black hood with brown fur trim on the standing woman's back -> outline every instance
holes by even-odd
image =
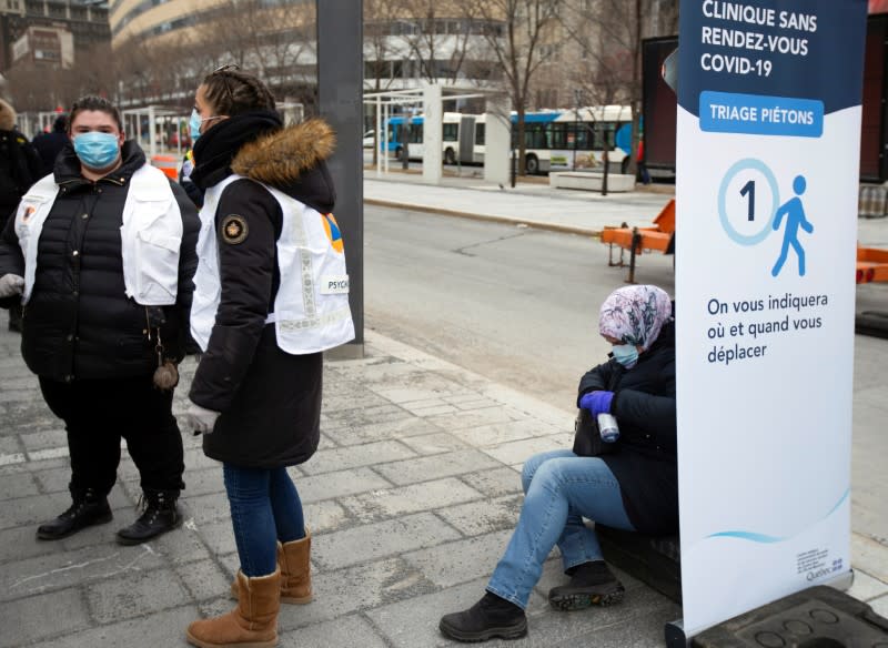
[[[321,212],[332,211],[335,191],[325,160],[336,135],[321,119],[285,126],[244,144],[231,170],[280,189]]]

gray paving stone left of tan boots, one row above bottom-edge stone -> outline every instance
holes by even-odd
[[[92,617],[110,624],[188,605],[190,597],[171,569],[131,571],[85,587]]]

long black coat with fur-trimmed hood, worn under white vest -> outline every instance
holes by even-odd
[[[233,172],[245,176],[224,189],[213,214],[222,295],[189,394],[221,412],[203,437],[204,454],[220,462],[274,468],[303,463],[317,448],[322,354],[281,351],[274,325],[265,324],[280,285],[283,214],[254,181],[329,213],[335,195],[324,160],[333,143],[320,120],[281,129],[273,113],[255,113],[219,122],[194,146],[191,179],[201,190]],[[235,237],[224,225],[232,219],[240,223]]]

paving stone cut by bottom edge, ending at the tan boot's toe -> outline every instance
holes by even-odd
[[[67,634],[38,644],[37,648],[159,648],[186,646],[185,628],[196,619],[194,605],[179,606],[144,617],[99,626],[81,632]]]

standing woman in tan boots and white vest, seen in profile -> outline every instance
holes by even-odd
[[[322,352],[354,337],[324,160],[334,135],[287,128],[236,65],[198,88],[191,180],[204,192],[191,314],[203,350],[185,428],[222,462],[240,569],[231,612],[192,622],[206,646],[274,646],[283,603],[309,603],[311,536],[286,472],[320,439]]]

